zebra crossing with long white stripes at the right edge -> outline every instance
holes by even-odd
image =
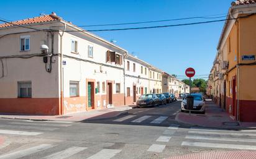
[[[256,134],[244,131],[191,127],[181,146],[256,150]]]

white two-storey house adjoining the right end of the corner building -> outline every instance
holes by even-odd
[[[125,57],[125,89],[126,105],[132,105],[140,95],[149,93],[150,64],[135,56],[127,54]]]

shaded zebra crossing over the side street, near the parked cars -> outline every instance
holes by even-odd
[[[136,115],[127,115],[122,118],[114,119],[112,122],[132,122],[132,123],[142,123],[142,122],[149,122],[149,124],[161,124],[163,121],[168,119],[168,116],[136,116]]]

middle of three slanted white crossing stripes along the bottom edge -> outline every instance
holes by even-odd
[[[48,155],[47,157],[44,157],[43,159],[64,159],[71,157],[72,155],[75,155],[78,152],[81,152],[85,150],[87,147],[70,147],[66,150],[53,153],[52,155]]]

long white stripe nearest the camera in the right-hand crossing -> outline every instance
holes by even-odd
[[[182,142],[182,146],[190,147],[211,147],[211,148],[231,148],[239,150],[256,150],[254,145],[238,145],[238,144],[216,144],[209,142]]]

